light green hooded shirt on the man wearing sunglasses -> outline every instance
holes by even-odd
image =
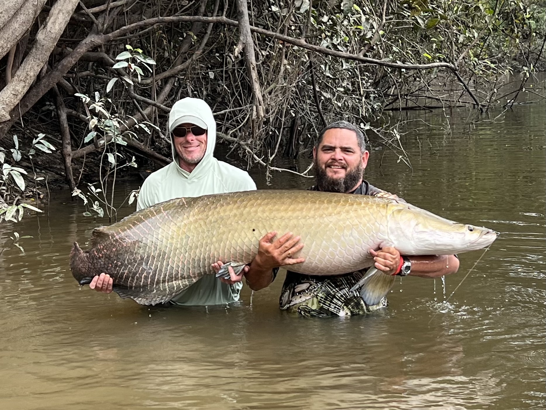
[[[183,98],[177,101],[169,113],[168,133],[176,126],[189,122],[207,128],[205,156],[187,172],[180,168],[178,154],[171,137],[173,162],[151,173],[140,188],[136,210],[173,198],[195,197],[224,192],[251,191],[256,184],[248,175],[228,163],[212,156],[216,145],[216,122],[209,105],[199,98]],[[242,283],[228,285],[214,275],[205,275],[188,289],[173,298],[173,302],[187,306],[224,304],[239,300]]]

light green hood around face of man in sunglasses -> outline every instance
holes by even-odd
[[[176,153],[173,136],[171,134],[171,131],[174,130],[174,128],[186,122],[195,124],[201,128],[206,128],[207,130],[205,156],[191,173],[180,168],[178,154]],[[173,108],[170,110],[167,131],[171,140],[173,160],[181,175],[187,179],[199,179],[202,175],[206,174],[214,161],[212,154],[216,147],[216,121],[212,116],[212,110],[210,109],[209,104],[200,98],[186,97],[179,99],[179,101],[173,104]]]

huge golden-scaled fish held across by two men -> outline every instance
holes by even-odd
[[[212,263],[250,263],[265,233],[293,232],[313,275],[353,272],[373,264],[370,249],[402,255],[449,255],[481,249],[496,232],[458,224],[403,201],[316,191],[258,190],[177,198],[95,229],[90,249],[77,243],[70,268],[80,284],[104,272],[114,291],[157,304],[187,289]]]

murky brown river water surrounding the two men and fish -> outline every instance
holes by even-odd
[[[21,241],[25,254],[0,255],[0,408],[544,408],[544,105],[483,121],[498,114],[449,112],[446,131],[441,113],[408,113],[435,125],[408,122],[412,170],[383,150],[366,170],[417,206],[500,232],[447,302],[481,251],[461,255],[445,284],[397,281],[384,312],[302,319],[278,309],[282,276],[252,304],[245,287],[239,305],[208,309],[80,288],[69,250],[99,222],[64,194],[49,213],[3,224],[2,242],[13,230],[33,238]]]

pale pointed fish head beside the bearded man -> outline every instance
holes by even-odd
[[[460,224],[408,204],[393,214],[389,231],[397,232],[393,245],[403,255],[452,255],[483,249],[498,235],[486,227]]]

